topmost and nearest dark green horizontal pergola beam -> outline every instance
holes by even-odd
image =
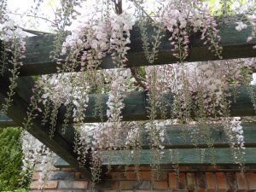
[[[232,16],[218,19],[218,29],[221,36],[220,45],[223,47],[223,59],[236,59],[255,57],[256,51],[253,45],[256,44],[256,39],[247,43],[247,37],[251,33],[250,27],[246,30],[237,32],[236,21],[239,21],[239,16]],[[153,40],[154,30],[152,26],[148,26],[149,41]],[[177,58],[172,54],[172,46],[168,38],[171,34],[166,32],[161,39],[160,51],[158,59],[154,61],[153,65],[176,63]],[[56,63],[49,60],[49,51],[54,49],[54,35],[42,35],[26,38],[26,58],[23,60],[23,66],[20,68],[20,75],[38,75],[56,73]],[[218,57],[207,49],[201,41],[201,34],[195,33],[191,37],[189,47],[189,56],[186,61],[212,61],[218,60]],[[127,67],[147,66],[148,61],[143,54],[143,45],[140,39],[140,32],[137,26],[134,26],[131,31],[131,49],[127,55]],[[102,69],[116,67],[113,64],[111,57],[108,55],[103,58],[100,66]],[[77,68],[79,71],[79,68]]]

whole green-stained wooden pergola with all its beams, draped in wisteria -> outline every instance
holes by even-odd
[[[218,20],[218,29],[221,36],[220,45],[223,47],[223,59],[236,59],[256,57],[256,51],[253,49],[253,45],[256,45],[256,39],[247,43],[247,37],[250,34],[250,29],[246,29],[242,32],[236,32],[235,30],[236,17],[223,18]],[[134,27],[131,31],[131,49],[127,55],[128,61],[127,67],[140,67],[145,66],[148,63],[144,54],[142,42],[138,35],[139,29]],[[153,27],[148,26],[148,32],[153,32]],[[172,55],[172,45],[168,41],[170,33],[166,32],[162,43],[160,44],[159,58],[154,61],[154,65],[176,63],[177,58]],[[214,55],[211,50],[207,49],[207,45],[204,45],[201,41],[201,35],[195,33],[190,37],[189,44],[189,56],[186,61],[213,61],[218,60],[218,56]],[[150,40],[150,39],[149,39]],[[18,85],[15,89],[16,93],[13,97],[13,104],[9,108],[8,116],[2,116],[1,126],[22,126],[24,119],[26,118],[26,110],[29,107],[30,98],[32,96],[32,88],[34,86],[34,80],[31,76],[57,73],[56,63],[49,60],[49,51],[54,47],[54,35],[38,35],[30,38],[26,38],[26,58],[23,60],[23,66],[20,67],[20,77],[18,79]],[[102,69],[108,69],[115,67],[111,56],[107,56],[103,59],[100,66]],[[79,71],[79,68],[77,68]],[[0,77],[0,102],[4,102],[4,98],[7,96],[9,90],[9,77],[8,75]],[[256,93],[256,87],[253,87],[254,93]],[[103,95],[103,101],[108,101],[108,95]],[[172,94],[166,95],[168,98],[167,116],[172,114]],[[101,117],[94,115],[94,103],[96,100],[95,95],[90,95],[90,102],[85,112],[84,122],[99,122]],[[134,120],[146,120],[147,118],[148,102],[146,94],[144,92],[132,92],[128,93],[125,97],[125,108],[122,110],[122,116],[124,121]],[[42,106],[43,110],[44,107]],[[103,105],[104,119],[107,120],[107,105]],[[61,106],[58,111],[58,118],[55,127],[55,134],[53,138],[49,137],[49,126],[41,125],[42,116],[38,115],[36,119],[32,121],[31,129],[29,131],[34,137],[37,137],[39,141],[44,143],[47,147],[58,154],[68,164],[73,166],[79,171],[83,171],[87,176],[90,176],[89,166],[79,166],[77,160],[77,154],[73,152],[74,143],[74,128],[73,121],[70,119],[67,133],[65,135],[61,132],[61,126],[63,125],[64,113],[66,108]],[[230,106],[230,116],[255,116],[256,112],[253,108],[250,96],[248,95],[245,87],[240,87],[238,94],[236,95],[236,102],[232,102]],[[157,118],[160,119],[160,112],[157,113]],[[209,157],[206,156],[204,162],[192,152],[194,144],[190,141],[184,142],[180,137],[182,125],[169,126],[167,128],[167,134],[169,140],[165,141],[165,147],[167,149],[177,148],[181,158],[179,164],[211,164]],[[256,163],[256,124],[244,123],[244,137],[246,154],[246,164]],[[145,133],[146,134],[146,133]],[[214,140],[214,148],[216,148],[216,164],[232,164],[233,160],[229,154],[229,143],[224,137],[222,131],[212,131],[212,139]],[[148,158],[148,145],[147,139],[143,139],[143,155],[141,164],[149,164]],[[120,146],[121,148],[122,146]],[[198,148],[207,148],[207,143],[200,143]],[[207,151],[208,149],[206,149]],[[112,164],[122,164],[119,160],[119,150],[113,153]],[[193,156],[193,157],[192,157]],[[89,158],[88,158],[89,160]],[[103,165],[108,162],[103,162]],[[124,163],[124,162],[123,162]],[[164,156],[161,160],[161,164],[170,164],[172,161],[168,156]]]

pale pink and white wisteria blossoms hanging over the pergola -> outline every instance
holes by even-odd
[[[185,137],[191,139],[195,147],[200,141],[206,141],[208,148],[212,150],[212,164],[214,147],[211,133],[212,129],[221,125],[236,163],[241,167],[244,164],[241,119],[230,118],[229,108],[233,98],[230,98],[230,91],[227,90],[236,90],[241,84],[246,85],[256,110],[256,96],[250,86],[252,73],[256,70],[255,58],[221,60],[222,47],[218,44],[220,35],[217,22],[206,2],[161,0],[154,1],[153,4],[154,6],[150,7],[150,3],[143,0],[100,1],[90,6],[93,9],[88,9],[89,15],[79,18],[79,7],[86,5],[86,1],[61,0],[61,9],[57,9],[55,14],[55,49],[51,50],[51,59],[57,62],[58,73],[37,77],[24,126],[29,129],[32,120],[38,113],[42,113],[42,125],[49,125],[49,136],[54,137],[58,109],[64,105],[66,113],[63,117],[62,132],[66,133],[69,122],[74,123],[73,150],[78,154],[81,166],[85,165],[90,153],[94,182],[99,179],[101,160],[106,151],[109,169],[113,150],[122,149],[127,152],[127,159],[131,157],[134,160],[138,171],[145,134],[152,151],[152,177],[158,177],[160,160],[165,149],[164,142],[169,139],[166,137],[166,125],[184,125],[185,129],[192,129],[193,125],[201,127],[199,130],[195,129],[191,136]],[[12,65],[10,90],[2,107],[2,113],[6,113],[15,94],[25,44],[22,40],[24,32],[8,15],[7,1],[3,1],[1,6],[2,75],[8,72],[5,68]],[[241,15],[240,20],[236,20],[234,30],[242,32],[251,27],[252,32],[247,37],[247,42],[252,41],[256,32],[255,4],[242,5],[234,1],[229,11]],[[76,28],[73,28],[73,25],[76,25]],[[126,67],[131,29],[136,25],[141,31],[143,49],[149,64],[153,64],[158,58],[160,39],[165,31],[172,34],[169,41],[177,63]],[[148,40],[148,25],[154,26],[152,42]],[[218,56],[219,61],[185,61],[189,55],[190,36],[195,32],[201,32],[202,43],[207,45],[206,49],[211,49]],[[103,58],[107,55],[111,56],[116,68],[99,70]],[[80,68],[80,72],[76,72],[77,68]],[[134,90],[145,92],[145,102],[149,104],[147,121],[123,121],[125,96]],[[84,124],[90,94],[96,94],[95,115],[101,116],[102,119],[96,124]],[[103,115],[103,94],[108,95],[107,117]],[[170,94],[172,101],[166,97]],[[44,106],[44,110],[39,106]],[[166,113],[171,109],[172,116],[167,117]],[[161,112],[160,119],[156,118],[158,111]],[[47,170],[47,162],[50,162],[54,155],[41,143],[29,149],[31,143],[28,137],[30,136],[24,136],[24,169],[32,168],[40,151],[39,154],[47,154],[49,157],[49,160],[42,160],[41,163],[44,170]],[[129,163],[128,160],[127,164]],[[176,164],[177,169],[177,162],[173,164]],[[43,173],[45,174],[42,179],[47,178],[47,172]]]

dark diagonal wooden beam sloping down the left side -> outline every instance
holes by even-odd
[[[0,76],[0,103],[4,102],[4,98],[7,96],[7,92],[9,90],[9,80],[7,79],[8,78],[3,78],[3,76]],[[29,107],[30,98],[32,96],[33,84],[32,78],[18,79],[18,85],[15,89],[16,94],[13,96],[14,102],[9,108],[7,115],[19,126],[22,126],[24,119],[26,119],[26,110]],[[56,129],[58,128],[59,127],[57,126]],[[55,132],[53,138],[50,138],[49,125],[42,126],[39,116],[37,119],[32,121],[32,127],[27,131],[29,131],[32,136],[38,138],[40,142],[44,143],[56,154],[61,156],[61,158],[66,160],[71,166],[84,172],[85,175],[90,177],[90,171],[86,167],[79,166],[77,155],[73,152],[73,145],[67,143],[63,136],[57,132]]]

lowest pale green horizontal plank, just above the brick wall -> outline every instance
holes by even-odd
[[[174,154],[177,153],[178,155]],[[214,159],[215,164],[224,165],[224,164],[235,164],[233,155],[231,154],[230,148],[214,148],[215,152]],[[211,165],[212,164],[212,151],[211,149],[198,149],[195,148],[182,148],[170,150],[164,149],[164,154],[160,160],[160,165],[165,164],[179,164],[179,165]],[[256,148],[246,148],[246,154],[244,154],[244,163],[246,165],[256,165]],[[109,163],[112,166],[122,166],[128,164],[135,165],[137,162],[134,158],[127,158],[127,153],[125,151],[113,151],[109,156],[108,151],[102,152],[102,165],[106,166]],[[130,152],[131,153],[131,152]],[[157,163],[151,158],[150,150],[142,150],[140,155],[140,164],[141,165],[150,165],[150,163]],[[203,158],[201,157],[203,154]],[[125,161],[126,160],[126,161]],[[127,161],[128,160],[128,161]]]

